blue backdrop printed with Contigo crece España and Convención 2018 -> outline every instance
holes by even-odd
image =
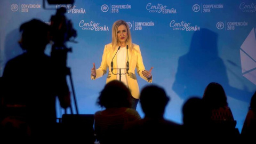
[[[18,45],[21,23],[32,18],[50,23],[61,6],[68,9],[65,15],[77,30],[78,43],[67,43],[72,48],[67,65],[79,114],[101,109],[95,102],[106,76],[92,81],[92,63],[99,67],[104,45],[111,42],[111,27],[122,19],[129,23],[133,43],[140,45],[146,69],[154,67],[153,83],[164,87],[171,97],[167,119],[182,124],[183,102],[191,95],[202,97],[207,84],[218,82],[241,131],[256,90],[255,0],[77,0],[74,5],[46,2],[47,10],[43,0],[2,0],[1,76],[7,60],[22,53]],[[45,52],[50,54],[51,45]],[[138,83],[140,89],[148,84],[141,78]],[[74,110],[74,100],[72,106]],[[137,110],[143,117],[140,104]],[[63,114],[59,105],[57,113],[58,117]]]

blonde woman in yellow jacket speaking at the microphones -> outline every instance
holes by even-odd
[[[117,79],[122,81],[131,90],[132,108],[136,109],[139,101],[139,85],[135,75],[138,75],[148,83],[152,83],[151,70],[145,70],[140,52],[140,46],[132,43],[131,31],[127,23],[117,20],[112,27],[112,42],[105,45],[101,65],[95,69],[95,63],[91,69],[91,79],[97,79],[107,73],[106,83]],[[120,73],[121,72],[121,73]]]

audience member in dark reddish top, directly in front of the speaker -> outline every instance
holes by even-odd
[[[125,123],[140,119],[139,113],[131,108],[131,92],[123,82],[107,83],[100,92],[98,105],[106,108],[94,114],[94,131],[101,144],[122,143],[121,134]]]

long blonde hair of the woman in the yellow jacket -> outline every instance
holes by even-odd
[[[117,37],[117,30],[118,30],[118,27],[121,25],[124,25],[127,28],[127,39],[126,39],[125,45],[128,45],[129,50],[132,52],[133,44],[132,44],[131,31],[130,31],[129,25],[124,20],[117,20],[114,22],[112,26],[112,50],[115,51],[116,47],[118,47],[120,44]]]

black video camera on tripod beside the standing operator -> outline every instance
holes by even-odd
[[[44,9],[45,8],[45,1],[43,2]],[[47,3],[50,5],[57,5],[57,4],[71,4],[73,5],[74,0],[47,0]],[[66,8],[61,6],[57,9],[55,15],[51,17],[51,30],[50,36],[52,45],[51,57],[56,62],[57,66],[66,67],[67,61],[67,53],[71,52],[72,49],[66,46],[66,42],[75,42],[71,40],[72,37],[76,37],[77,33],[76,30],[73,28],[71,20],[68,20],[65,16],[67,12]]]

